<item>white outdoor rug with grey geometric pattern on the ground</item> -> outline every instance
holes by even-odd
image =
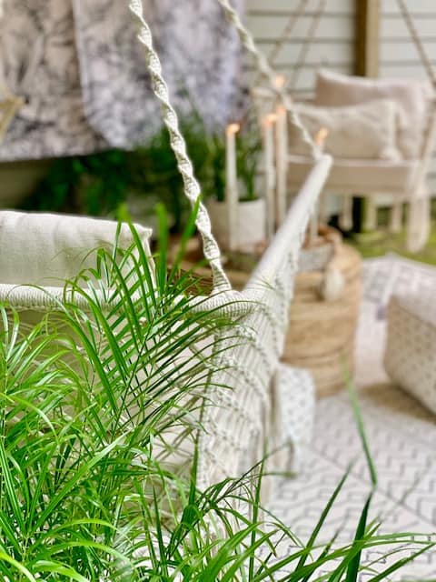
[[[433,289],[436,300],[436,269],[398,256],[364,262],[354,383],[379,477],[371,517],[382,517],[381,533],[417,532],[430,537],[436,533],[436,416],[392,386],[382,366],[384,313],[392,291],[407,293],[423,288]],[[352,540],[371,488],[348,394],[322,399],[317,404],[312,446],[302,472],[278,485],[273,513],[292,527],[295,535],[307,539],[356,458],[320,541],[328,541],[338,531],[338,541],[346,544]],[[281,548],[281,554],[285,553],[286,548]],[[371,573],[362,573],[362,582],[371,579],[374,571],[388,567],[389,562],[380,564],[378,559],[377,551],[363,556],[365,564],[374,564]],[[436,552],[417,558],[390,579],[436,580]]]

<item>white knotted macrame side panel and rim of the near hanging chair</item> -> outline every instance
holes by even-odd
[[[219,361],[229,366],[229,370],[216,382],[226,388],[215,388],[211,395],[216,406],[206,409],[203,422],[206,432],[199,441],[201,487],[229,475],[237,476],[241,464],[253,467],[266,452],[273,410],[272,379],[277,374],[288,330],[289,305],[302,240],[331,162],[330,157],[324,156],[314,166],[240,296],[240,301],[252,308],[239,318],[241,345],[233,348],[231,357]],[[226,295],[213,298],[214,305]],[[229,342],[234,345],[234,337]]]

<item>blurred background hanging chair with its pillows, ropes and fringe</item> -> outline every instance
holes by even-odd
[[[311,14],[307,12],[308,5],[311,4]],[[396,0],[398,9],[404,25],[411,36],[411,42],[416,48],[420,57],[421,64],[425,69],[430,83],[421,82],[417,79],[405,78],[368,78],[362,76],[340,75],[329,71],[321,71],[317,75],[316,88],[314,92],[313,106],[321,107],[319,112],[319,124],[315,126],[316,141],[325,142],[325,137],[321,139],[322,134],[330,135],[326,146],[326,151],[334,157],[332,174],[327,183],[327,189],[334,194],[342,195],[342,214],[340,224],[343,229],[352,228],[352,196],[354,194],[362,196],[376,196],[379,193],[392,195],[393,204],[391,206],[390,228],[391,232],[401,232],[402,208],[404,202],[410,203],[410,212],[407,214],[407,247],[411,252],[420,251],[428,242],[428,236],[431,230],[431,205],[430,205],[430,186],[428,184],[428,175],[431,166],[431,159],[436,146],[436,69],[434,67],[431,55],[424,45],[423,39],[418,33],[414,18],[408,7],[407,0]],[[262,61],[261,71],[263,76],[269,79],[270,86],[253,91],[253,97],[258,104],[259,115],[264,115],[264,110],[275,107],[277,100],[275,95],[281,95],[283,91],[292,94],[292,90],[297,86],[300,73],[306,65],[307,57],[310,55],[313,43],[316,42],[317,31],[320,25],[322,15],[328,5],[326,0],[318,0],[318,3],[309,3],[302,0],[289,18],[288,23],[284,26],[281,37],[272,47],[270,53],[270,63],[280,55],[282,48],[289,42],[297,22],[300,22],[302,16],[309,17],[309,27],[307,35],[302,39],[301,48],[297,60],[293,67],[292,75],[287,80],[284,76],[272,77],[271,66],[265,65],[265,59]],[[262,60],[262,59],[261,59]],[[256,81],[261,80],[258,75]],[[290,97],[291,100],[291,97]],[[387,101],[396,105],[396,115],[392,132],[392,113],[383,115],[383,113],[371,113],[371,106],[375,101],[383,101],[385,108],[388,107]],[[366,105],[368,105],[365,111]],[[311,102],[303,102],[300,105],[294,105],[296,111],[302,119],[302,125],[313,137],[313,127],[309,127],[307,111],[304,108]],[[342,112],[340,107],[361,107],[361,117],[355,118],[356,124],[351,123],[351,111]],[[379,106],[380,103],[379,103]],[[301,109],[299,111],[299,108]],[[323,120],[329,118],[329,112],[333,115],[332,126],[323,123]],[[334,111],[336,109],[336,111]],[[313,114],[313,111],[312,111]],[[371,126],[371,132],[360,132],[364,117],[368,117]],[[312,115],[313,117],[313,115]],[[388,126],[388,130],[386,127]],[[284,134],[286,128],[281,128],[280,132]],[[379,140],[374,142],[374,135]],[[394,140],[391,137],[394,137]],[[371,137],[371,139],[369,139]],[[332,139],[333,138],[333,139]],[[345,152],[340,155],[337,149],[338,140],[348,139],[348,145],[345,146]],[[276,161],[276,189],[277,198],[285,198],[286,189],[290,185],[295,185],[301,180],[302,173],[308,165],[302,159],[297,147],[300,144],[295,140],[292,143],[292,135],[289,144],[286,142],[287,135],[282,135],[279,139],[281,150],[284,151],[283,144],[290,146],[292,158],[288,156],[277,156]],[[343,141],[346,141],[343,139]],[[332,141],[335,142],[332,148]],[[389,142],[385,144],[385,142]],[[382,144],[387,148],[380,148],[380,155],[374,154],[373,145]],[[367,145],[371,147],[366,148]],[[342,144],[343,146],[343,144]],[[365,147],[363,147],[365,146]],[[392,147],[393,146],[393,147]],[[365,149],[366,148],[366,149]],[[365,151],[362,151],[365,150]],[[394,151],[396,150],[396,151]],[[296,157],[293,157],[297,155]],[[398,156],[400,155],[400,156]],[[350,157],[348,159],[342,159]],[[363,158],[370,158],[371,163],[363,161]],[[407,160],[405,162],[387,162],[386,160]],[[289,165],[288,165],[289,160]],[[309,164],[310,166],[310,164]],[[288,172],[291,177],[288,177]],[[301,183],[301,182],[300,182]],[[324,210],[326,209],[324,205]],[[325,219],[326,216],[323,216]],[[377,208],[376,200],[368,201],[367,213],[365,219],[365,228],[375,229],[377,227]]]

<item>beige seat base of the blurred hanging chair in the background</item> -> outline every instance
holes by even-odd
[[[313,166],[311,158],[290,155],[289,185],[295,190]],[[387,193],[410,196],[420,160],[372,160],[335,158],[326,188],[337,194]]]

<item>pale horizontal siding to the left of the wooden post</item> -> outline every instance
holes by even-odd
[[[282,36],[290,16],[300,0],[246,0],[247,24],[265,55],[270,55],[277,39]],[[312,24],[318,5],[310,0],[305,14],[295,25],[292,36],[283,45],[274,68],[291,76],[299,51]],[[320,66],[350,74],[354,67],[354,2],[353,0],[328,0],[316,40],[307,55],[295,87],[295,93],[312,93],[316,71]]]

